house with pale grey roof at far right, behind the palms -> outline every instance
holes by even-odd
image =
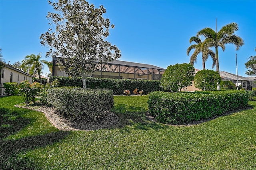
[[[236,82],[236,74],[232,74],[229,72],[220,72],[220,76],[224,77],[222,78],[223,81],[232,81],[236,86],[242,85],[242,88],[246,90],[252,90],[253,86],[255,87],[255,77],[243,77],[243,76],[237,76],[238,82]]]

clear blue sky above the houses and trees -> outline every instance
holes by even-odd
[[[53,0],[52,0],[53,1]],[[189,63],[186,50],[189,39],[202,28],[217,31],[226,24],[236,22],[235,32],[244,40],[244,46],[236,51],[232,44],[220,48],[220,71],[246,76],[244,63],[255,56],[256,47],[256,1],[154,1],[154,0],[90,0],[96,8],[106,8],[105,18],[115,25],[110,30],[108,41],[121,50],[119,60],[152,64],[161,68]],[[42,53],[45,58],[48,48],[41,46],[40,35],[48,30],[47,12],[53,12],[46,0],[0,0],[0,48],[8,63],[24,59],[26,55]],[[214,50],[214,49],[212,49]],[[192,51],[193,52],[193,51]],[[191,52],[191,54],[192,54]],[[215,50],[214,50],[215,52]],[[197,69],[202,69],[201,54]],[[212,69],[212,60],[206,61],[206,69]],[[44,74],[48,73],[45,66]]]

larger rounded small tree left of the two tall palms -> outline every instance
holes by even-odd
[[[182,88],[192,85],[195,69],[192,64],[175,64],[170,65],[165,70],[160,86],[164,90],[177,92]]]

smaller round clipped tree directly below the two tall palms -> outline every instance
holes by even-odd
[[[201,70],[194,78],[195,87],[201,90],[216,90],[220,81],[220,74],[213,70]]]

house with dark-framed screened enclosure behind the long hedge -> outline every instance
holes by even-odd
[[[60,70],[56,64],[57,62],[57,59],[53,58],[52,76],[69,76],[65,71]],[[164,70],[166,69],[150,64],[114,60],[105,65],[99,64],[97,71],[88,76],[116,79],[161,80]]]

